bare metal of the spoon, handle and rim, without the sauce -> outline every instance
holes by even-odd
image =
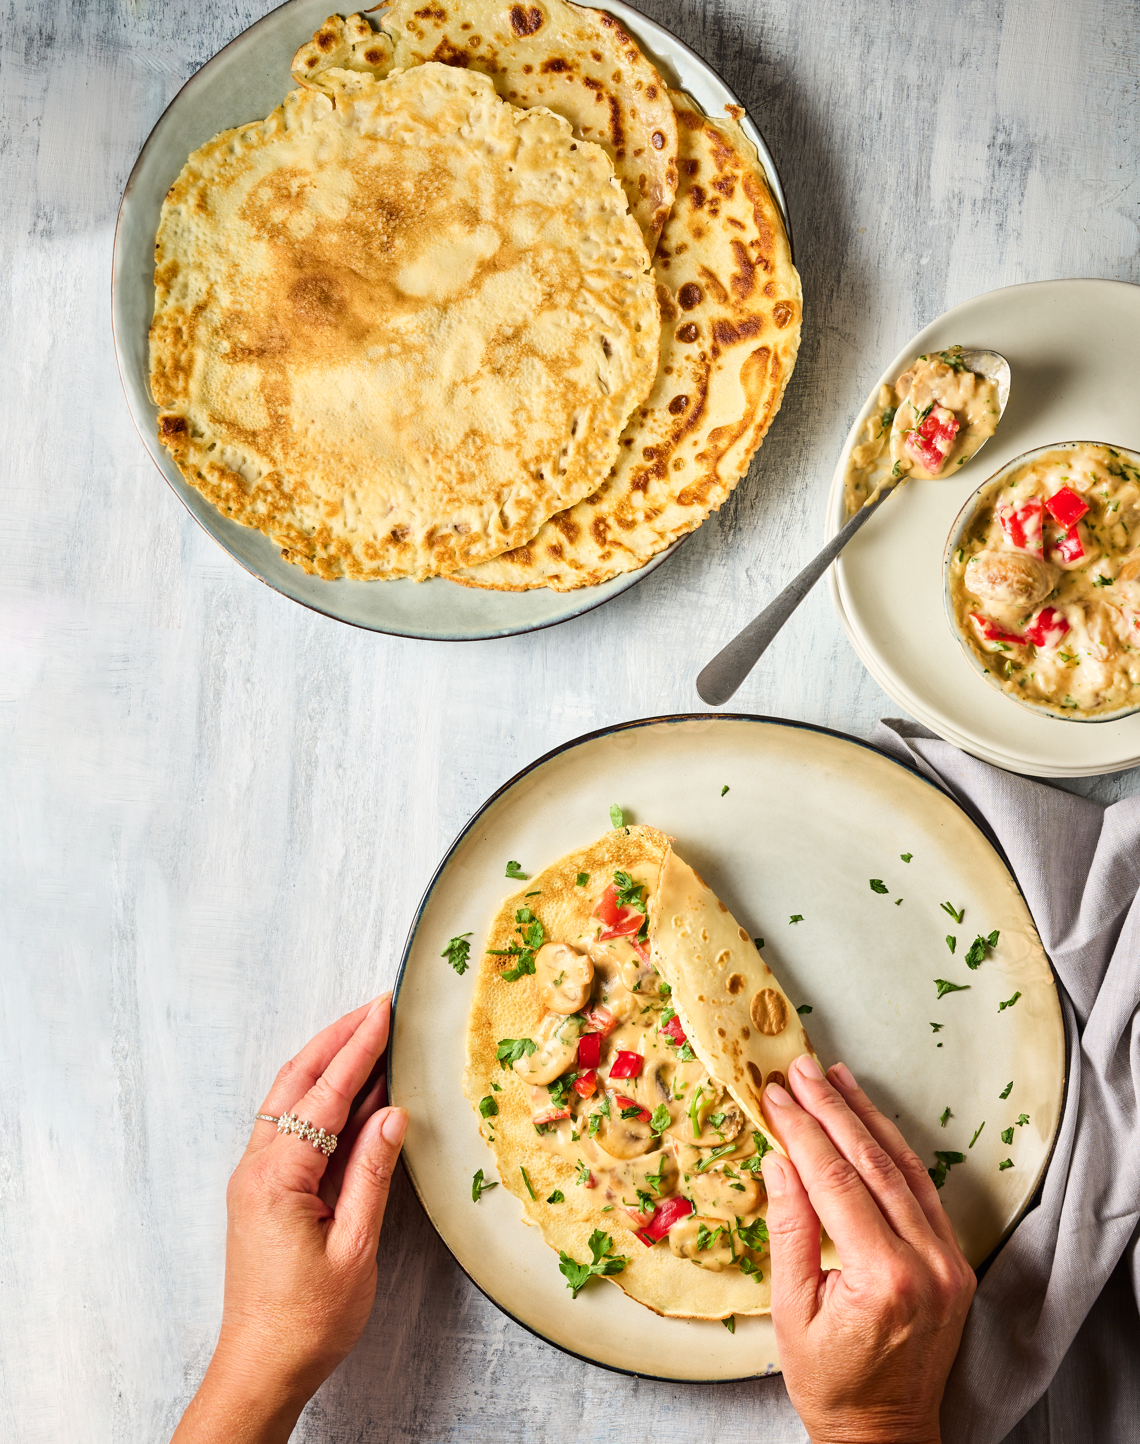
[[[962,351],[961,358],[970,371],[975,371],[978,375],[988,377],[991,381],[997,383],[997,422],[1000,425],[1010,399],[1009,361],[998,351]],[[876,387],[876,391],[878,391],[878,387]],[[997,426],[994,430],[997,430]],[[985,440],[983,440],[978,451],[974,452],[974,456],[978,455],[988,439],[990,438],[987,436]],[[970,458],[971,462],[974,461],[974,456]],[[970,465],[970,462],[967,462],[967,465]],[[955,481],[959,474],[961,468],[955,469]],[[864,503],[847,526],[837,531],[824,550],[803,567],[799,576],[793,578],[779,596],[767,604],[759,617],[754,617],[743,631],[737,632],[727,647],[722,647],[721,651],[717,653],[712,661],[708,663],[696,679],[696,690],[702,702],[707,702],[711,708],[720,708],[733,696],[741,682],[757,664],[760,657],[763,657],[764,651],[767,651],[767,647],[776,637],[776,632],[783,627],[808,592],[811,592],[839,552],[842,552],[858,529],[870,521],[887,497],[890,497],[903,481],[906,481],[904,475],[897,479],[887,478],[887,481],[883,482],[883,488],[876,500],[870,504]]]

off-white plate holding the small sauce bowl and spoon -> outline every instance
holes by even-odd
[[[1095,725],[1033,715],[972,671],[942,605],[942,553],[971,491],[1020,452],[1074,436],[1140,448],[1140,286],[1056,280],[975,296],[920,331],[880,384],[957,342],[1007,358],[1010,404],[977,462],[952,481],[907,482],[847,544],[828,579],[839,621],[883,690],[974,757],[1032,777],[1136,767],[1140,713]],[[828,536],[845,520],[844,462],[865,413],[835,469]]]

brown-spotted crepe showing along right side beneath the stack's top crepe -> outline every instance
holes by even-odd
[[[455,582],[565,592],[637,570],[722,505],[780,409],[802,292],[779,208],[737,121],[707,118],[679,91],[672,100],[681,180],[655,256],[653,390],[592,495]]]

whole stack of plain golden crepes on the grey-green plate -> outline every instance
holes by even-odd
[[[608,14],[394,0],[170,188],[150,332],[185,478],[322,578],[569,591],[715,510],[799,345],[738,117]]]

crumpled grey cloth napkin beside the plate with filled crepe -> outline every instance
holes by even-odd
[[[967,757],[915,722],[884,719],[871,741],[997,839],[1061,982],[1069,1084],[1056,1148],[1036,1207],[978,1285],[942,1402],[945,1440],[997,1444],[1049,1389],[1118,1262],[1140,1302],[1140,797],[1089,801]],[[1140,1354],[1124,1357],[1124,1370],[1089,1380],[1074,1438],[1140,1437]],[[1048,1412],[1035,1411],[1040,1430],[1017,1428],[1019,1444],[1062,1437]]]

